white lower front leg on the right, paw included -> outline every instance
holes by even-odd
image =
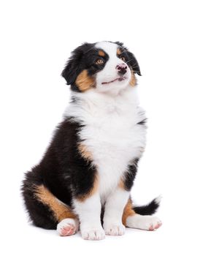
[[[122,187],[117,187],[107,198],[104,210],[104,230],[106,235],[121,236],[125,233],[122,217],[128,197],[129,192]]]

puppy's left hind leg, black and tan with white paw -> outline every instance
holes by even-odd
[[[79,223],[71,208],[55,197],[43,184],[29,179],[23,181],[23,197],[33,224],[45,229],[56,229],[60,236],[77,232]]]

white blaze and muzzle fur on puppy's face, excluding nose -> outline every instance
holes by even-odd
[[[96,90],[102,92],[118,92],[121,89],[126,88],[131,80],[131,70],[126,62],[118,58],[117,50],[119,46],[113,42],[98,42],[95,46],[96,48],[104,50],[104,52],[109,56],[104,69],[102,69],[96,75]],[[127,72],[125,75],[123,75],[123,80],[115,80],[117,78],[122,78],[122,76],[118,74],[117,69],[117,65],[120,64],[127,65]]]

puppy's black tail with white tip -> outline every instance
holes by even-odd
[[[161,195],[153,199],[145,206],[134,206],[133,210],[136,214],[140,215],[152,215],[155,214],[161,203]]]

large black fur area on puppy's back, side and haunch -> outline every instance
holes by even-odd
[[[57,224],[50,210],[34,197],[34,186],[45,185],[63,203],[72,207],[72,197],[86,195],[96,175],[96,167],[78,151],[81,125],[66,118],[55,131],[50,146],[39,165],[26,173],[23,197],[34,225],[55,228]]]

